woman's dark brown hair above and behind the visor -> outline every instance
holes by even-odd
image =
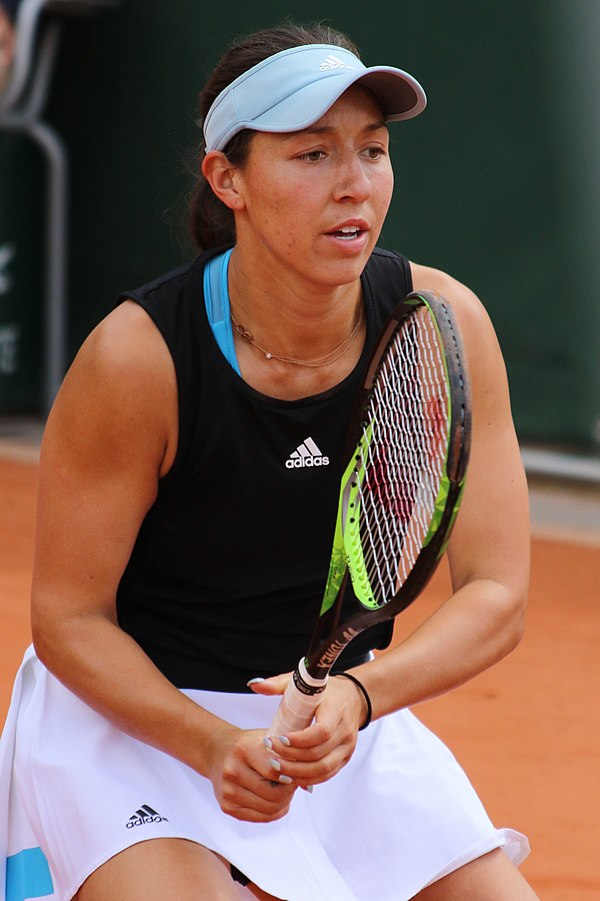
[[[293,25],[250,34],[235,41],[217,64],[199,96],[200,116],[204,121],[213,102],[227,85],[238,76],[258,65],[274,53],[302,47],[305,44],[334,44],[344,47],[358,56],[352,41],[327,25]],[[254,132],[245,129],[238,132],[225,147],[225,154],[234,166],[243,166],[248,157]],[[200,147],[200,160],[204,156],[204,142]],[[200,167],[198,166],[198,169]],[[209,250],[235,241],[235,221],[232,211],[213,193],[200,172],[190,203],[190,232],[199,250]]]

